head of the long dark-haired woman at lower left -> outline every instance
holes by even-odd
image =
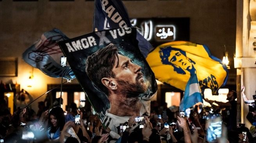
[[[64,124],[65,124],[65,116],[62,108],[59,106],[52,108],[52,110],[48,115],[48,125],[50,125],[52,128],[55,128],[55,129],[60,127],[60,129],[62,130]]]

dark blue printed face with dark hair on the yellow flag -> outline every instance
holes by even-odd
[[[163,64],[171,65],[174,71],[180,74],[186,74],[187,71],[194,71],[194,61],[186,57],[186,53],[180,49],[165,47],[160,48],[160,58]]]

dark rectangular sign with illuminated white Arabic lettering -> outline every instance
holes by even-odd
[[[177,40],[190,40],[190,19],[185,18],[136,18],[131,24],[154,47]]]

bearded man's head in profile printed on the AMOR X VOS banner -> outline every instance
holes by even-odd
[[[86,60],[86,73],[106,95],[123,91],[138,96],[138,93],[144,93],[147,89],[141,66],[119,54],[115,44],[109,44],[89,56]]]

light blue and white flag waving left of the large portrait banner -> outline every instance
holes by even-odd
[[[59,29],[54,28],[43,33],[38,41],[23,52],[22,58],[50,77],[74,78],[75,75],[69,65],[60,65],[61,56],[64,55],[57,42],[68,39]]]

